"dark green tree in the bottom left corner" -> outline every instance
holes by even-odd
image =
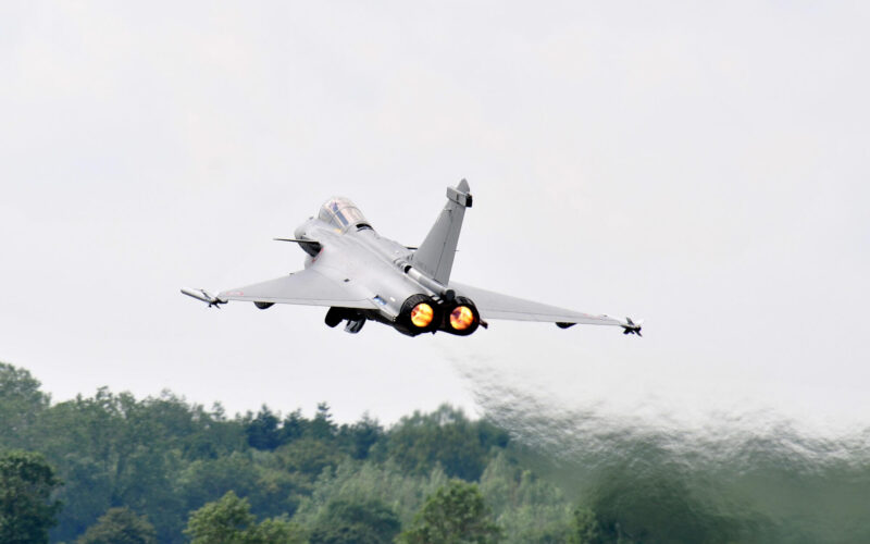
[[[0,456],[0,542],[48,542],[48,530],[61,509],[52,492],[61,485],[40,454],[7,452]]]

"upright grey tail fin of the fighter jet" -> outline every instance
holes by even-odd
[[[471,208],[469,182],[462,180],[459,185],[447,187],[447,206],[442,210],[426,239],[411,257],[414,268],[442,285],[450,281],[453,268],[453,254],[459,242],[459,231],[465,208]]]

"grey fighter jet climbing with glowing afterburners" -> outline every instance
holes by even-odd
[[[182,293],[209,307],[229,300],[266,309],[275,304],[323,306],[326,324],[346,322],[358,333],[366,321],[385,323],[402,334],[445,332],[468,336],[488,320],[545,321],[568,329],[577,323],[616,325],[641,336],[642,321],[592,316],[500,295],[451,281],[459,231],[471,208],[469,184],[447,188],[447,205],[419,247],[381,236],[347,198],[334,197],[296,230],[293,238],[307,255],[304,268],[268,282],[212,295]]]

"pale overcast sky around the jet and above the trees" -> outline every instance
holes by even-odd
[[[870,423],[862,2],[0,3],[0,360],[112,391],[395,421],[493,383],[679,420]],[[611,327],[469,338],[220,311],[332,195],[452,277]]]

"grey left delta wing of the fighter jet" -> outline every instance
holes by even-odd
[[[217,294],[221,300],[276,302],[288,305],[337,306],[375,310],[377,306],[363,294],[345,287],[323,274],[300,270],[289,275]]]

